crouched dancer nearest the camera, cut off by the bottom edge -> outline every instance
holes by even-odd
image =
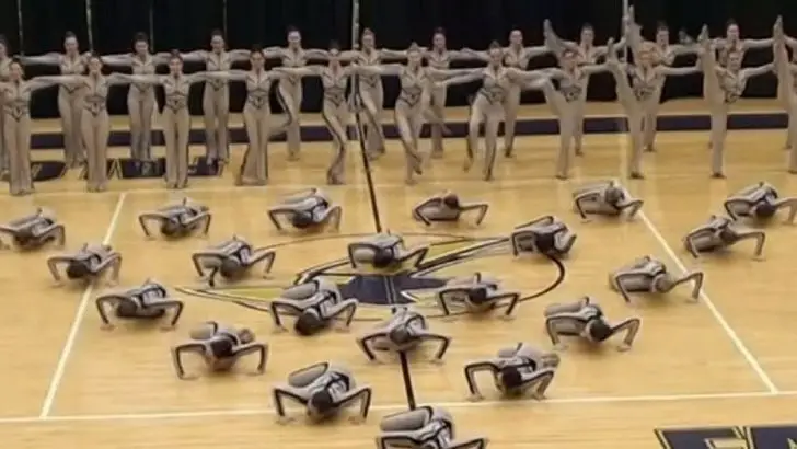
[[[377,449],[399,447],[435,449],[486,449],[486,438],[454,440],[451,414],[436,406],[424,405],[382,418]]]

